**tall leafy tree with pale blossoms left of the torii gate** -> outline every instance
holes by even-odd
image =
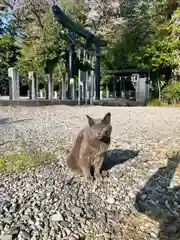
[[[52,73],[65,50],[61,27],[53,20],[50,2],[46,0],[3,0],[19,23],[21,58],[18,67],[24,82],[28,71]]]

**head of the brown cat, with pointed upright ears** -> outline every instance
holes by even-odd
[[[112,132],[111,113],[107,113],[102,119],[93,119],[88,115],[86,117],[93,136],[102,142],[110,143]]]

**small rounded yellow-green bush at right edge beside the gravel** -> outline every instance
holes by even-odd
[[[166,86],[162,91],[162,96],[168,102],[173,104],[179,103],[180,101],[180,82],[173,82]]]

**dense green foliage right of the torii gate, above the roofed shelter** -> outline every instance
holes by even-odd
[[[167,0],[144,1],[140,5],[135,2],[132,6],[128,1],[122,2],[122,10],[125,8],[122,14],[128,19],[129,27],[109,47],[103,61],[107,69],[155,69],[167,83],[179,63],[180,40],[174,34],[179,28],[175,25],[179,8],[173,8]]]

